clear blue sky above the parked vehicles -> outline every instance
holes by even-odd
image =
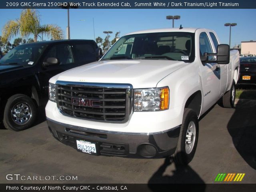
[[[21,9],[0,9],[0,35],[8,20],[19,18]],[[38,9],[41,24],[58,24],[65,33],[67,26],[67,10]],[[241,41],[256,40],[256,9],[70,9],[70,37],[72,39],[104,38],[103,31],[113,31],[121,36],[137,31],[154,28],[168,28],[172,26],[167,15],[180,15],[175,20],[174,27],[210,28],[216,31],[220,41],[229,43],[229,27],[225,23],[237,23],[232,27],[231,47]],[[81,21],[85,20],[85,21]],[[19,36],[17,36],[19,37]],[[14,38],[13,38],[14,39]],[[10,41],[12,43],[13,39]],[[44,37],[44,39],[47,39]]]

